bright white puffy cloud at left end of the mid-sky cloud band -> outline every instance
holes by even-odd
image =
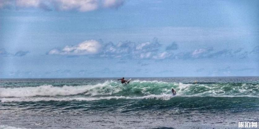
[[[62,50],[51,49],[49,55],[90,55],[99,53],[101,44],[96,40],[87,40],[78,45],[65,46]]]

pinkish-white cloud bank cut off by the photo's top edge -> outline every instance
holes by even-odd
[[[20,8],[40,8],[46,11],[88,12],[102,8],[119,8],[124,0],[0,0],[0,9],[6,6]]]

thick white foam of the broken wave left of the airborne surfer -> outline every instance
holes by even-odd
[[[20,88],[0,88],[0,97],[33,97],[33,96],[56,96],[56,95],[76,95],[76,94],[113,94],[119,92],[120,87],[112,87],[107,81],[103,84],[82,85],[82,86],[62,86],[42,85],[37,87]]]

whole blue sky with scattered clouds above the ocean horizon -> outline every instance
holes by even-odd
[[[259,76],[258,41],[258,0],[0,0],[0,78]]]

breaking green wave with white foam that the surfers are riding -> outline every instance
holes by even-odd
[[[0,88],[0,97],[36,96],[148,96],[170,94],[174,88],[178,96],[253,96],[259,97],[258,83],[216,83],[183,84],[162,81],[134,80],[128,85],[106,81],[95,85],[57,87],[42,85],[36,87]]]

